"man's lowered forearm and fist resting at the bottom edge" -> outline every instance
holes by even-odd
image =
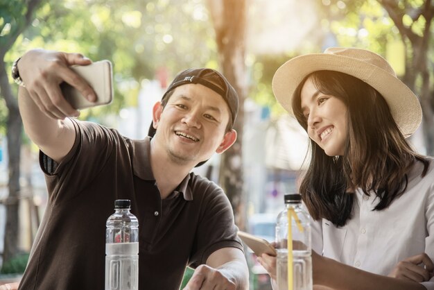
[[[249,270],[243,251],[221,248],[209,255],[206,265],[200,265],[184,290],[249,289]]]

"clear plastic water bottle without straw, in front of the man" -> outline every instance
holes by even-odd
[[[139,289],[139,222],[131,201],[114,201],[105,231],[105,290]]]

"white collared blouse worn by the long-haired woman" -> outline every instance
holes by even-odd
[[[428,254],[434,261],[434,161],[426,176],[416,162],[408,186],[385,210],[372,211],[378,199],[356,191],[353,215],[342,228],[322,219],[312,223],[312,247],[325,257],[380,275],[388,275],[407,257]],[[422,283],[434,290],[434,278]]]

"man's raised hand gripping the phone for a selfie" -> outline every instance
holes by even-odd
[[[92,61],[80,53],[42,49],[28,51],[17,63],[19,76],[24,81],[31,99],[41,112],[53,119],[78,117],[80,114],[63,96],[61,83],[65,82],[74,87],[87,101],[96,102],[97,96],[91,85],[71,69],[73,65],[91,64]]]

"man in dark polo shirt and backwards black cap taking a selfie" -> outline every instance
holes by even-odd
[[[28,51],[12,69],[28,136],[40,148],[49,203],[20,289],[103,289],[105,221],[116,199],[130,199],[139,220],[139,288],[248,289],[248,268],[222,189],[191,169],[236,140],[238,99],[211,69],[178,74],[153,107],[144,140],[78,121],[65,101],[66,81],[96,96],[69,66],[77,53]],[[20,82],[19,82],[20,83]],[[23,83],[21,83],[23,85]],[[155,130],[152,130],[155,129]]]

